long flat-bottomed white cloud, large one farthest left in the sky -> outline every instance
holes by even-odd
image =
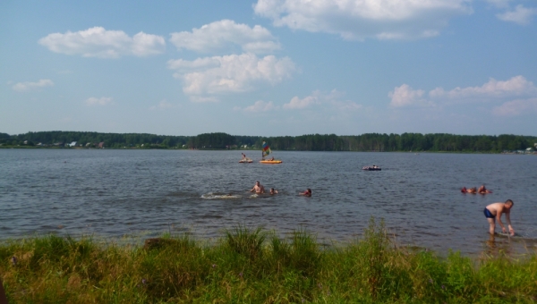
[[[157,35],[139,32],[129,37],[123,30],[105,30],[102,27],[53,33],[38,42],[55,53],[98,58],[157,55],[166,48],[165,39]]]

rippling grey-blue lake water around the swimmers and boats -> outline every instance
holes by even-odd
[[[212,238],[247,224],[350,241],[372,215],[400,242],[474,255],[490,246],[483,208],[511,198],[524,238],[499,237],[493,246],[519,252],[537,241],[537,156],[274,151],[284,163],[261,165],[260,151],[245,154],[254,163],[239,164],[241,151],[0,149],[0,238],[168,231]],[[255,181],[279,194],[252,197]],[[493,193],[460,192],[482,183]],[[298,195],[306,188],[311,198]]]

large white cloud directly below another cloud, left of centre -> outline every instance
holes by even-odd
[[[167,64],[176,70],[174,77],[183,80],[183,92],[188,95],[244,92],[260,83],[276,84],[296,71],[288,57],[260,58],[251,53],[170,60]]]

